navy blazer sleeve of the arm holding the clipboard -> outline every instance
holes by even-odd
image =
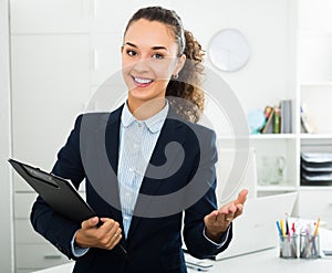
[[[52,172],[70,179],[75,188],[84,178],[83,165],[80,156],[80,126],[82,115],[77,117],[74,129],[71,132],[65,146],[59,151],[58,160]],[[30,214],[34,230],[55,245],[69,259],[74,259],[71,251],[71,241],[80,224],[69,221],[54,212],[41,198],[34,201]]]

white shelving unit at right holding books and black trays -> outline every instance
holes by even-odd
[[[290,22],[293,29],[290,30],[288,44],[289,52],[294,53],[290,57],[290,65],[295,64],[295,67],[290,70],[288,88],[289,98],[293,102],[293,132],[288,135],[250,136],[250,144],[257,150],[258,178],[262,168],[260,160],[266,154],[284,156],[288,169],[284,181],[279,185],[260,185],[259,180],[257,195],[298,191],[293,213],[304,218],[322,217],[332,227],[332,187],[302,186],[300,179],[301,151],[332,153],[332,63],[328,61],[332,59],[332,21],[326,11],[332,12],[332,4],[325,0],[292,1],[292,4],[295,22]],[[311,120],[315,124],[314,134],[305,134],[301,126],[302,103],[307,104]]]

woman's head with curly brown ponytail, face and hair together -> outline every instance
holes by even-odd
[[[166,94],[177,114],[198,122],[204,111],[204,92],[200,90],[204,51],[174,11],[159,13],[142,9],[129,20],[122,48],[125,82],[131,95],[159,97]],[[134,70],[132,74],[129,70]],[[142,90],[135,93],[135,87],[149,85],[154,85],[149,90],[154,95]]]

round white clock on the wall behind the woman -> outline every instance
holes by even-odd
[[[243,67],[250,56],[250,46],[246,36],[237,29],[224,29],[217,32],[208,46],[212,64],[226,72]]]

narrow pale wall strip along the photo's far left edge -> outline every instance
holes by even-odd
[[[13,271],[8,0],[0,1],[0,266]]]

